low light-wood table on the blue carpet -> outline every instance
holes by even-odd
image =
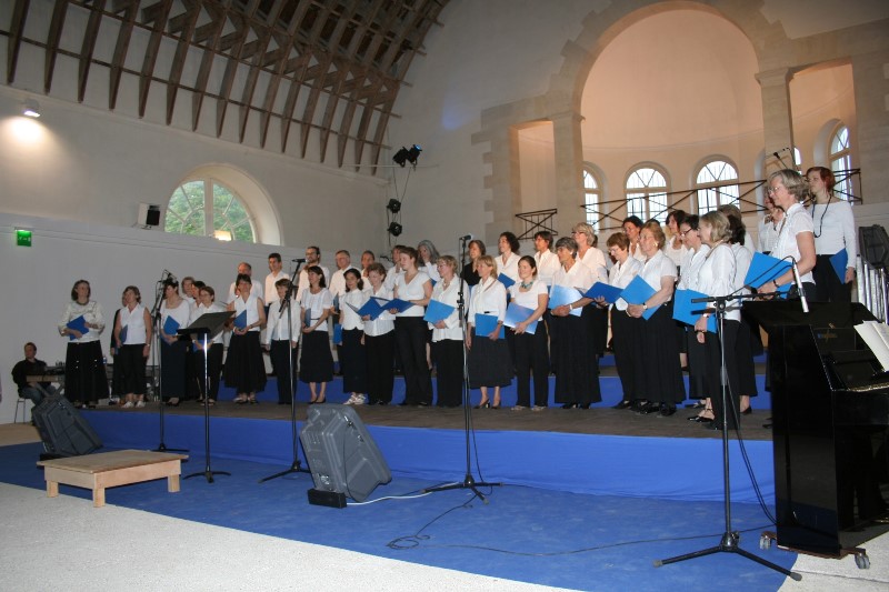
[[[186,454],[118,450],[83,456],[40,461],[47,481],[47,498],[59,495],[59,483],[92,490],[92,505],[104,505],[104,489],[167,478],[167,491],[179,491],[181,461]]]

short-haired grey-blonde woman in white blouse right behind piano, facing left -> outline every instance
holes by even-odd
[[[768,192],[775,205],[785,211],[778,225],[778,237],[771,255],[778,259],[793,258],[800,274],[800,282],[807,298],[815,295],[812,269],[816,263],[815,233],[812,219],[800,203],[808,194],[808,184],[800,173],[783,169],[769,175]],[[759,291],[770,293],[778,287],[793,281],[793,271],[788,270],[773,281],[763,283]],[[791,288],[791,293],[795,288]]]

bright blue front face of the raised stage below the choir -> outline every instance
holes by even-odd
[[[330,403],[328,403],[330,404]],[[595,420],[595,411],[593,419]],[[86,412],[108,448],[150,449],[159,443],[159,418],[123,411]],[[652,421],[657,421],[653,420]],[[284,420],[211,418],[213,468],[226,459],[290,465],[291,425]],[[301,422],[300,422],[301,428]],[[367,425],[392,473],[430,481],[462,481],[461,430]],[[167,414],[164,443],[203,458],[203,418]],[[682,501],[722,499],[719,439],[642,438],[535,431],[476,431],[473,474],[487,481],[542,489]],[[770,441],[743,444],[766,502],[775,495]],[[757,494],[737,441],[731,445],[731,496],[756,503]],[[301,454],[301,453],[300,453]],[[478,459],[478,466],[475,464]],[[304,460],[304,459],[301,459]],[[197,462],[196,462],[197,464]],[[384,495],[384,486],[376,494]]]

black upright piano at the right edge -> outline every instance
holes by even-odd
[[[855,325],[861,304],[756,302],[769,333],[777,541],[827,555],[889,531],[889,377]]]

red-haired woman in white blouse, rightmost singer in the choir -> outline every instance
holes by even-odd
[[[812,194],[811,214],[815,235],[816,263],[813,300],[819,302],[851,302],[851,282],[858,257],[855,217],[848,201],[833,195],[833,171],[812,167],[806,171],[809,192]],[[848,261],[842,278],[833,271],[830,258],[846,249]]]

